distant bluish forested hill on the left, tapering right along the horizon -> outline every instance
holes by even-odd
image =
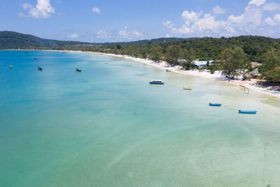
[[[131,42],[120,42],[118,44],[145,44],[145,43],[162,43],[169,41],[179,41],[178,38],[140,40]],[[18,32],[3,31],[0,32],[0,49],[34,49],[34,48],[57,48],[66,47],[92,47],[92,46],[115,46],[117,43],[87,43],[79,41],[58,41],[51,39],[41,39],[30,34],[21,34]]]

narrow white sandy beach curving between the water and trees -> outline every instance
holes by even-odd
[[[128,55],[116,55],[116,54],[111,54],[111,53],[99,53],[99,52],[90,52],[90,51],[80,51],[80,50],[43,50],[43,51],[59,51],[59,52],[71,52],[71,53],[89,53],[89,54],[95,54],[95,55],[109,55],[112,57],[120,57],[124,58],[127,60],[133,60],[136,62],[141,62],[143,64],[148,64],[153,67],[157,67],[160,69],[169,69],[174,73],[178,74],[186,74],[189,76],[200,76],[202,78],[208,78],[213,81],[223,81],[225,83],[230,83],[232,85],[237,85],[237,86],[242,86],[249,88],[250,90],[253,90],[255,92],[260,92],[265,95],[270,95],[273,97],[278,97],[280,98],[280,92],[279,91],[274,91],[274,90],[269,90],[272,87],[267,87],[267,88],[262,88],[258,85],[256,85],[258,80],[251,79],[251,81],[242,81],[241,78],[237,78],[236,80],[231,80],[230,82],[228,81],[228,78],[225,76],[221,75],[221,71],[216,71],[214,74],[210,74],[209,71],[204,70],[204,71],[199,71],[199,70],[181,70],[181,67],[169,67],[169,65],[166,62],[160,62],[156,63],[153,60],[145,60],[141,58],[136,58],[136,57],[130,57]]]

